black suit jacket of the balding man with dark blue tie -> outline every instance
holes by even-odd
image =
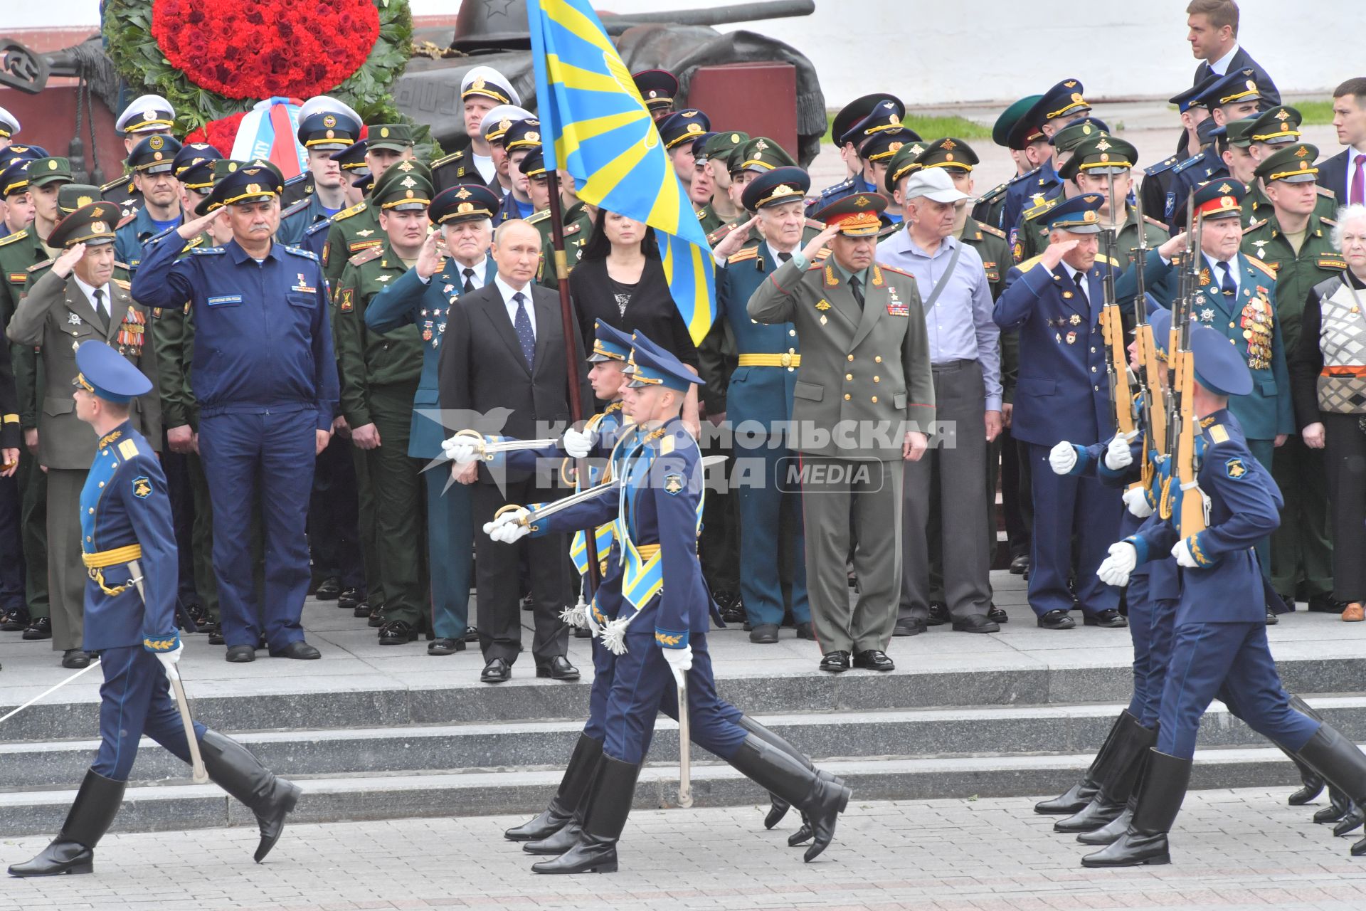
[[[550,425],[570,422],[570,382],[566,362],[564,318],[553,291],[527,285],[535,313],[535,352],[527,369],[516,331],[494,283],[460,295],[447,316],[445,337],[437,362],[440,407],[455,422],[451,429],[473,428],[479,433],[531,440],[549,436]],[[578,317],[572,320],[578,324]],[[583,363],[578,332],[570,333],[571,356]],[[579,372],[579,395],[586,408],[593,392],[586,370]],[[448,425],[451,426],[451,425]],[[518,481],[529,473],[507,471]],[[479,479],[494,478],[481,466]]]

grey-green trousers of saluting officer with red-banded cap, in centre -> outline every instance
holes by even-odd
[[[800,460],[806,585],[817,643],[826,654],[885,651],[902,587],[902,460],[806,453]],[[851,526],[859,580],[852,606],[846,570]]]

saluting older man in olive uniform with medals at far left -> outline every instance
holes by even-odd
[[[92,194],[93,195],[93,194]],[[66,389],[78,373],[75,352],[82,341],[98,339],[117,347],[145,376],[157,377],[156,346],[148,335],[152,309],[128,295],[115,280],[112,202],[90,202],[52,228],[46,243],[63,253],[46,268],[10,320],[10,340],[42,346],[42,411],[38,415],[38,462],[46,467],[48,597],[52,609],[52,647],[63,653],[63,667],[90,662],[81,649],[82,583],[81,488],[89,470],[93,441],[81,425]],[[150,440],[161,441],[161,403],[157,396],[133,406],[133,422]],[[176,578],[175,570],[171,578]]]

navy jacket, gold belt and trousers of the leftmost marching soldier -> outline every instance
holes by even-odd
[[[179,645],[176,546],[167,479],[157,453],[124,421],[100,438],[81,490],[86,651],[101,653],[100,751],[92,769],[126,781],[146,733],[184,762],[190,746],[154,651]],[[128,565],[142,572],[142,591]],[[195,724],[198,736],[204,725]]]

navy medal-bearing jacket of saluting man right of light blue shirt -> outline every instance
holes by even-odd
[[[1109,440],[1115,429],[1105,346],[1100,329],[1101,280],[1113,270],[1097,258],[1086,273],[1083,303],[1071,268],[1044,268],[1041,257],[1012,266],[996,300],[996,325],[1019,329],[1019,378],[1015,384],[1016,440],[1050,447],[1063,440],[1087,447]]]

